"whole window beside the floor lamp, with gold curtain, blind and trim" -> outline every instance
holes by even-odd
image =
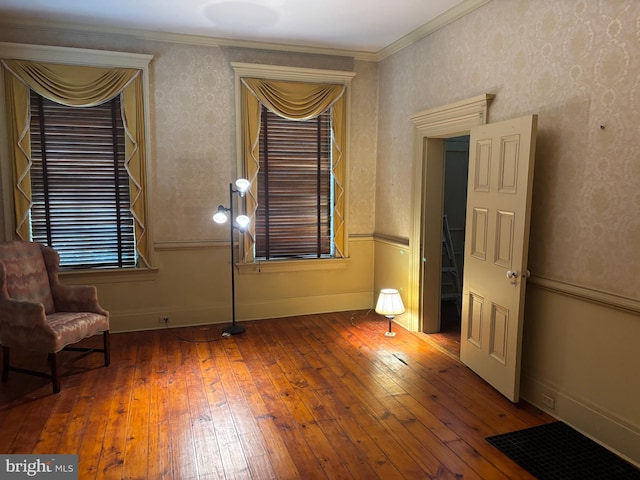
[[[238,176],[251,182],[240,263],[269,260],[263,266],[272,271],[336,265],[334,259],[349,256],[345,177],[355,73],[232,66]]]

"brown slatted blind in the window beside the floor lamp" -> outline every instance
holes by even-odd
[[[256,259],[332,255],[331,115],[282,118],[262,108]]]

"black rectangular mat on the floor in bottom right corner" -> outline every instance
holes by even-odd
[[[563,422],[487,441],[538,480],[640,480],[639,469]]]

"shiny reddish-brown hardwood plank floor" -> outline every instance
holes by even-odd
[[[58,395],[12,372],[0,453],[77,453],[80,479],[532,478],[485,437],[553,418],[424,335],[366,311],[243,325],[113,334],[107,368],[65,352]]]

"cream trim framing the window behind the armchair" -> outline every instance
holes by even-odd
[[[111,52],[106,50],[89,50],[85,48],[55,47],[50,45],[29,45],[21,43],[0,42],[0,59],[18,59],[41,63],[61,63],[66,65],[80,65],[87,67],[111,67],[111,68],[136,68],[142,71],[143,102],[145,115],[145,138],[147,142],[151,139],[150,127],[150,102],[149,102],[149,64],[153,55],[141,53]],[[13,186],[12,167],[9,153],[9,139],[7,135],[6,102],[4,96],[4,75],[0,74],[0,174],[2,175],[2,203],[4,220],[4,238],[13,238],[14,213],[13,213]],[[149,244],[153,245],[150,225],[152,218],[149,208],[149,201],[153,197],[150,175],[150,148],[145,149],[145,175],[146,198],[147,198],[147,235]],[[149,249],[147,259],[153,265],[153,248]]]

